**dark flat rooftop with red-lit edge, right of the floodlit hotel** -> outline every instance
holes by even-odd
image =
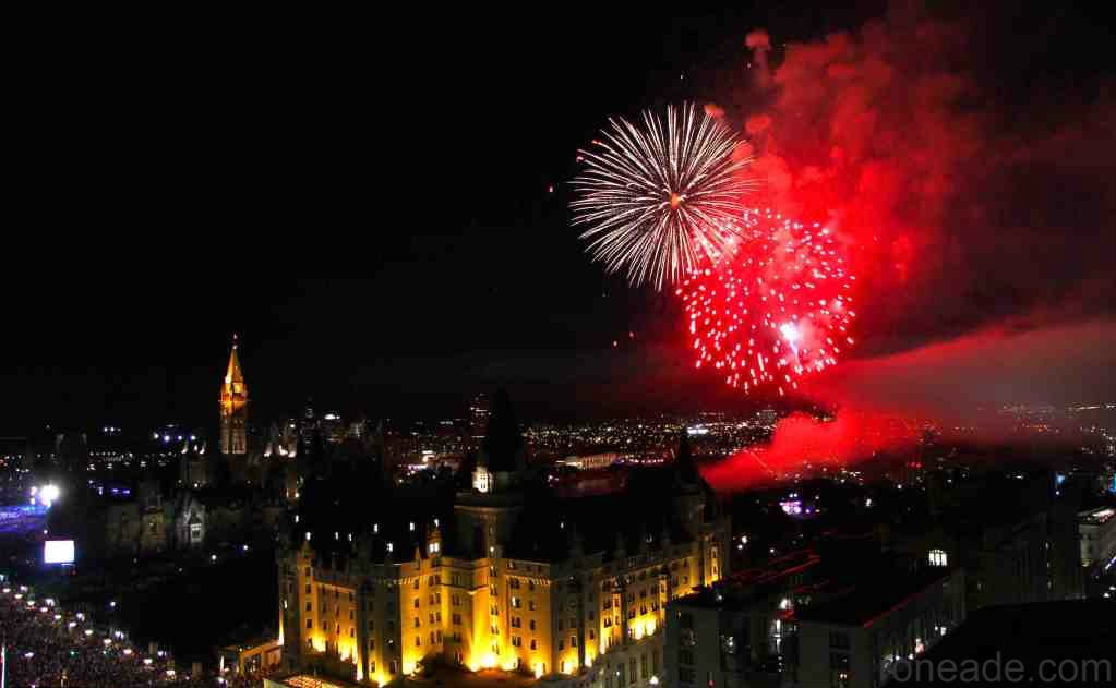
[[[872,626],[879,617],[902,609],[954,569],[933,566],[902,575],[873,575],[834,591],[833,597],[796,610],[800,621],[840,626]]]

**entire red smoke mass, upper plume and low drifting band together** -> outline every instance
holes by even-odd
[[[860,359],[806,390],[843,409],[836,420],[785,419],[769,446],[710,468],[715,486],[911,447],[917,424],[892,418],[1097,398],[1067,361],[1112,359],[1116,88],[1021,59],[1024,39],[995,13],[896,3],[779,52],[748,35],[752,88],[733,103],[758,202],[845,242]]]

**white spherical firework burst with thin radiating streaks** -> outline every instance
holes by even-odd
[[[633,285],[656,289],[715,261],[740,231],[741,172],[733,159],[740,140],[693,105],[667,107],[665,118],[645,112],[643,126],[609,120],[574,180],[574,224],[585,225],[587,251],[609,272],[627,272]]]

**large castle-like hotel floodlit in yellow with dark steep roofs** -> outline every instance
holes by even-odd
[[[658,684],[666,603],[728,573],[728,520],[686,447],[617,494],[532,491],[522,468],[482,455],[442,512],[369,497],[350,530],[294,523],[278,554],[287,667],[383,685],[437,657]]]

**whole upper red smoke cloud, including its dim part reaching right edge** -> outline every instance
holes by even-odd
[[[1026,88],[1011,101],[1003,70],[1019,64],[988,29],[903,3],[788,43],[770,70],[767,33],[745,41],[760,202],[847,242],[866,352],[1116,300],[1116,90],[1068,80],[1072,106]]]

